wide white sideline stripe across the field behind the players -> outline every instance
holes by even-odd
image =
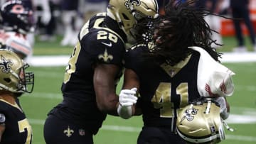
[[[65,66],[69,55],[33,56],[28,64],[35,67]],[[256,62],[256,52],[224,52],[221,62]]]

